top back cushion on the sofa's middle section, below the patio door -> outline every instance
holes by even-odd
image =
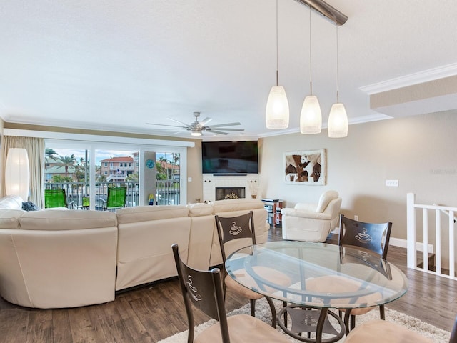
[[[156,219],[189,217],[189,209],[184,205],[137,206],[118,209],[116,214],[119,224],[127,224]]]

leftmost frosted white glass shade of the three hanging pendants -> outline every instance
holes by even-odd
[[[266,101],[265,119],[267,129],[288,128],[288,101],[283,86],[271,87]]]

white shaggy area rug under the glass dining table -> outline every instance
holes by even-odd
[[[282,309],[282,302],[276,302],[276,311],[279,312]],[[241,307],[240,309],[236,309],[229,313],[229,315],[233,314],[250,314],[249,304]],[[183,313],[183,316],[186,316]],[[264,322],[271,324],[271,312],[270,308],[268,307],[267,302],[265,299],[258,300],[256,302],[256,317],[262,319]],[[362,324],[363,322],[368,322],[369,320],[379,319],[379,311],[374,309],[373,311],[368,312],[367,314],[363,314],[362,316],[357,316],[356,324]],[[432,339],[433,342],[436,343],[446,343],[449,342],[449,338],[451,337],[451,332],[446,332],[442,329],[438,329],[438,327],[434,327],[431,324],[427,324],[421,322],[421,320],[408,316],[407,314],[403,314],[401,312],[397,312],[393,309],[386,308],[386,320],[389,322],[395,322],[396,324],[402,325],[403,327],[408,327],[413,331],[418,332],[419,334],[423,335],[424,337],[428,337]],[[204,324],[199,325],[196,327],[195,334],[196,336],[206,327],[211,326],[212,324],[216,323],[215,320],[210,320]],[[282,332],[282,329],[278,326],[277,329]],[[325,337],[325,335],[323,336]],[[300,342],[292,337],[289,337],[291,342]],[[344,342],[345,337],[343,337],[338,342]],[[186,343],[187,342],[187,331],[179,332],[179,334],[174,334],[171,337],[161,340],[159,343]]]

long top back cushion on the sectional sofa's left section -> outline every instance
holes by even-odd
[[[56,209],[24,212],[19,224],[26,230],[77,230],[116,227],[117,220],[113,212]]]

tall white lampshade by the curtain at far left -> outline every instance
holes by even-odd
[[[6,195],[19,195],[24,202],[29,197],[30,170],[26,149],[10,148],[6,156]]]

